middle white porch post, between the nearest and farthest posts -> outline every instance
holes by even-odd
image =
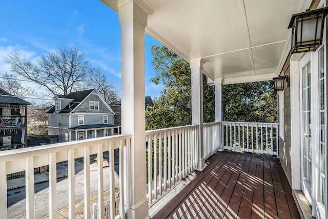
[[[201,58],[192,59],[191,68],[191,111],[192,124],[199,125],[198,132],[198,164],[196,170],[203,170],[205,167],[204,158],[204,133],[203,133],[203,62]]]

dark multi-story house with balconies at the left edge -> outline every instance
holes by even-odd
[[[0,151],[27,146],[27,105],[0,88]]]

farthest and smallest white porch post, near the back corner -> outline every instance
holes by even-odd
[[[222,122],[222,81],[223,78],[215,78],[215,122]],[[219,138],[219,151],[222,151],[222,126],[218,128],[217,137]]]

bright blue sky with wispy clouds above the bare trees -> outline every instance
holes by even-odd
[[[4,58],[13,50],[33,60],[45,52],[73,45],[120,91],[118,15],[99,0],[0,0],[0,19],[0,75],[10,73]],[[145,45],[146,95],[155,97],[162,86],[149,81],[154,76],[150,48],[159,43],[146,34]]]

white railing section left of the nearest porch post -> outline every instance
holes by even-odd
[[[130,209],[130,161],[131,135],[98,137],[89,140],[36,146],[0,152],[0,218],[7,218],[7,174],[24,171],[26,174],[26,217],[35,218],[34,203],[34,168],[49,165],[49,214],[56,217],[56,163],[68,161],[68,204],[69,217],[75,218],[75,158],[84,157],[84,215],[91,218],[90,208],[90,154],[97,154],[98,161],[103,161],[103,152],[109,151],[110,165],[110,218],[115,213],[114,149],[119,150],[119,216],[125,218]],[[126,161],[126,163],[124,162]],[[98,215],[105,215],[103,162],[98,162]],[[125,188],[125,189],[124,189]],[[108,212],[107,212],[108,213]]]

